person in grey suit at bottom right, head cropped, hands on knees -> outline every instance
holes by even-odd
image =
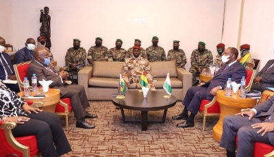
[[[229,115],[223,119],[223,134],[220,146],[227,149],[228,157],[253,156],[254,142],[274,145],[274,96],[248,112]]]

